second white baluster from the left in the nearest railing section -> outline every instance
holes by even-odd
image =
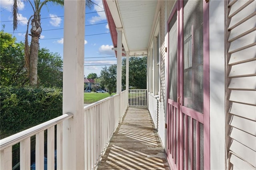
[[[30,137],[20,141],[20,169],[30,169]]]

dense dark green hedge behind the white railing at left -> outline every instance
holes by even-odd
[[[1,138],[60,115],[60,88],[0,87]]]

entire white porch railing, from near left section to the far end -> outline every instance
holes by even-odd
[[[123,116],[128,107],[128,92],[128,90],[122,91],[122,101],[119,99],[120,95],[116,94],[84,107],[85,169],[94,169],[108,146],[119,123],[118,104],[121,102],[121,115]],[[132,101],[139,103],[136,106],[146,106],[145,94],[146,90],[131,90],[130,92]],[[140,101],[142,99],[144,101]],[[67,113],[0,140],[0,169],[12,169],[12,146],[17,143],[20,143],[20,169],[30,169],[30,137],[34,135],[36,136],[35,166],[36,169],[44,169],[44,159],[46,159],[44,158],[44,130],[47,130],[47,167],[48,169],[56,167],[62,169],[62,123],[71,117],[73,114]]]

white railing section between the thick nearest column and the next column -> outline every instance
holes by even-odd
[[[86,170],[95,168],[118,126],[119,102],[116,94],[84,107]]]

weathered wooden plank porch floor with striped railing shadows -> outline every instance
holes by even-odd
[[[129,107],[98,164],[98,170],[169,170],[146,108]]]

